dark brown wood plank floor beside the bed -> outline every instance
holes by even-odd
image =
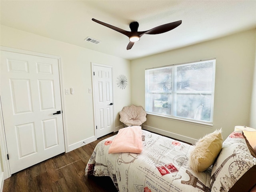
[[[117,192],[109,177],[87,178],[84,172],[96,144],[114,134],[13,174],[3,192]]]

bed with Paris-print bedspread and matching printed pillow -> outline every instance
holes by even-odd
[[[109,176],[119,192],[247,192],[256,185],[256,154],[242,132],[231,133],[201,172],[190,166],[197,144],[141,130],[142,152],[109,154],[118,134],[97,144],[85,174]]]

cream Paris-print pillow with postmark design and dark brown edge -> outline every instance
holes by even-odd
[[[232,132],[212,166],[212,191],[248,192],[256,185],[256,158],[246,144],[242,131]]]

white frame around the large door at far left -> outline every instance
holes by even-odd
[[[61,98],[61,107],[62,107],[62,123],[63,123],[63,131],[64,131],[64,145],[65,145],[65,152],[68,152],[68,139],[67,139],[67,127],[66,127],[66,113],[65,113],[65,100],[64,100],[64,85],[63,85],[63,75],[62,75],[62,62],[60,56],[44,54],[39,52],[33,52],[28,50],[21,50],[16,48],[10,48],[5,46],[0,46],[0,51],[8,51],[13,53],[20,53],[20,54],[27,54],[33,56],[40,56],[40,57],[47,57],[47,58],[54,58],[58,60],[58,70],[59,70],[59,78],[60,78],[60,98]],[[1,74],[1,73],[0,73]],[[1,103],[1,96],[0,96],[0,151],[1,151],[1,160],[2,160],[2,167],[4,171],[3,180],[9,178],[10,174],[10,166],[9,161],[7,159],[7,145],[6,145],[6,138],[5,138],[5,131],[4,131],[4,121],[2,115],[2,103]],[[1,182],[1,181],[0,181]],[[3,182],[3,181],[2,181]]]

